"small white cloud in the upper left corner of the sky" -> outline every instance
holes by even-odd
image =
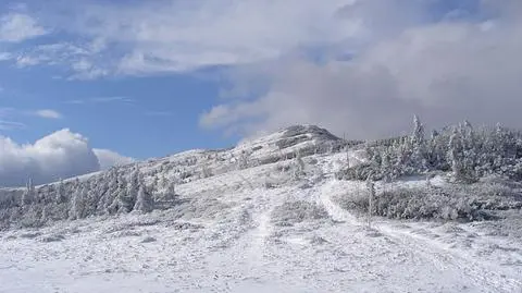
[[[48,34],[32,16],[9,13],[0,17],[0,41],[20,42]]]

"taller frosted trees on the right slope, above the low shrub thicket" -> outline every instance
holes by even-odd
[[[469,122],[433,131],[414,118],[410,136],[366,144],[368,163],[348,168],[341,179],[393,180],[431,171],[451,171],[456,181],[474,182],[497,174],[522,180],[522,133],[497,125],[474,129]]]

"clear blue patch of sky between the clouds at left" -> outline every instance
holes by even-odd
[[[92,146],[148,158],[229,146],[237,139],[199,127],[199,115],[220,93],[220,84],[201,73],[67,81],[53,78],[57,71],[52,69],[8,65],[1,74],[5,84],[0,93],[2,107],[53,109],[62,115],[16,114],[13,119],[26,126],[4,133],[18,143],[69,127],[87,136]]]

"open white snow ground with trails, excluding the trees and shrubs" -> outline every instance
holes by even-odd
[[[236,164],[241,150],[258,147],[249,161],[262,161],[316,138],[283,152],[273,145],[282,135],[220,154]],[[140,168],[188,156],[208,154]],[[369,219],[336,200],[365,191],[335,179],[347,160],[363,158],[318,151],[298,171],[296,159],[225,170],[212,158],[204,168],[214,173],[179,182],[169,209],[5,229],[0,292],[522,292],[520,209],[480,222]],[[174,180],[174,171],[161,172]]]

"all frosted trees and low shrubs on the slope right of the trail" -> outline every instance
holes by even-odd
[[[433,131],[414,118],[411,135],[365,143],[366,160],[336,175],[340,180],[381,181],[378,193],[362,190],[336,198],[351,210],[398,219],[489,220],[522,208],[522,133],[469,122]],[[433,174],[450,182],[434,186]],[[425,185],[394,185],[425,175]],[[370,204],[371,203],[371,204]]]

